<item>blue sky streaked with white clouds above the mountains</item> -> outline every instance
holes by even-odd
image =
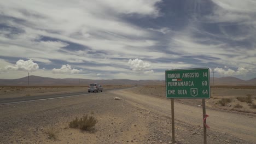
[[[256,1],[1,1],[0,79],[256,77]]]

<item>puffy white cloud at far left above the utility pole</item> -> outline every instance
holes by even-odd
[[[24,61],[20,59],[15,65],[5,66],[6,70],[22,70],[22,71],[36,71],[39,68],[37,63],[34,63],[32,59]]]

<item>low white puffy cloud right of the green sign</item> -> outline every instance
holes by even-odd
[[[216,71],[220,75],[224,76],[232,76],[232,75],[245,75],[249,72],[248,69],[239,67],[237,71],[232,70],[225,66],[225,69],[223,68],[215,68],[214,71]]]

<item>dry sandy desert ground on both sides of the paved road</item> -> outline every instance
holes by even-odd
[[[113,90],[0,105],[0,143],[172,143],[171,100],[165,98],[165,86],[103,87]],[[0,89],[0,101],[87,91],[85,86]],[[254,86],[212,87],[206,99],[211,127],[207,143],[255,143],[255,104]],[[201,99],[174,100],[176,143],[203,143],[201,105]],[[84,115],[97,118],[94,129],[69,128],[69,122]]]

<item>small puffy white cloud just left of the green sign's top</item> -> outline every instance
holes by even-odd
[[[128,64],[130,65],[130,68],[133,71],[137,71],[137,72],[143,72],[144,74],[152,74],[154,73],[153,70],[148,70],[151,67],[151,64],[148,62],[144,62],[141,59],[129,59]]]

